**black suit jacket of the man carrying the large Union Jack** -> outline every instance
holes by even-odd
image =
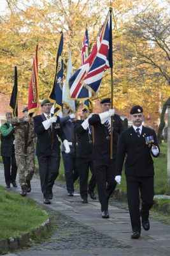
[[[94,125],[94,149],[93,158],[102,161],[110,161],[110,140],[108,129],[105,124],[101,124],[99,115],[92,115],[89,118],[89,124]],[[118,134],[124,131],[124,124],[120,116],[115,114],[113,116],[113,159],[117,156],[117,141]]]

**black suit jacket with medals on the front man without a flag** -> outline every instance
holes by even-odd
[[[144,127],[141,131],[141,136],[138,137],[133,127],[122,132],[118,144],[117,153],[117,168],[116,175],[121,175],[124,164],[125,154],[125,175],[133,175],[138,177],[149,177],[154,175],[153,157],[151,147],[145,143],[145,137],[153,136],[154,145],[159,147],[157,143],[157,136],[153,129]]]

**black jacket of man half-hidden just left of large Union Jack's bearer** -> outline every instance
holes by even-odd
[[[84,120],[76,120],[74,123],[74,129],[77,137],[76,156],[92,157],[92,135],[89,134],[89,129],[83,129],[81,125],[83,122]]]

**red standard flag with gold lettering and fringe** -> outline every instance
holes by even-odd
[[[38,109],[38,45],[33,58],[31,81],[29,83],[28,113],[32,116]]]

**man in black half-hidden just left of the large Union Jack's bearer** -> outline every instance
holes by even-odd
[[[79,180],[80,180],[80,196],[82,198],[82,204],[88,203],[88,194],[92,200],[96,200],[96,196],[94,194],[94,188],[96,187],[96,177],[94,175],[94,164],[92,159],[92,127],[87,127],[87,129],[83,129],[83,122],[88,118],[89,111],[87,108],[82,109],[83,120],[76,120],[74,124],[74,129],[76,131],[77,138],[77,148],[76,148],[76,159],[77,166],[79,170]],[[88,179],[89,179],[89,168],[92,173],[92,177],[89,182],[88,187]]]

